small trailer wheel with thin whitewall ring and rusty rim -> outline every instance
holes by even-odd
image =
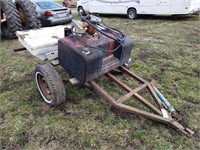
[[[52,65],[44,64],[36,66],[35,81],[46,104],[57,106],[66,101],[63,81]]]

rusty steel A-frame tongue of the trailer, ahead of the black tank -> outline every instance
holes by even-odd
[[[183,127],[180,123],[178,123],[176,120],[173,119],[171,113],[168,113],[167,106],[160,100],[160,98],[158,97],[158,95],[156,94],[153,88],[154,81],[147,82],[146,80],[139,77],[134,72],[129,71],[125,67],[120,67],[120,70],[128,74],[133,79],[140,82],[141,85],[138,86],[137,88],[132,89],[128,85],[126,85],[124,82],[119,80],[116,76],[111,74],[110,72],[106,73],[105,76],[107,76],[115,84],[117,84],[120,88],[124,89],[127,92],[127,94],[121,96],[119,99],[114,99],[111,95],[108,94],[108,92],[106,92],[102,87],[100,87],[95,81],[91,81],[90,85],[94,89],[96,89],[101,95],[106,97],[106,99],[116,108],[167,124],[171,126],[172,128],[181,131],[188,137],[192,137],[194,135],[194,131],[192,131],[189,128]],[[152,97],[154,98],[156,102],[156,106],[154,106],[152,103],[150,103],[148,100],[146,100],[144,97],[142,97],[139,94],[139,92],[141,92],[145,88],[147,88],[149,92],[151,93]],[[135,99],[137,99],[141,104],[143,104],[149,110],[151,110],[151,112],[147,112],[147,111],[129,106],[127,104],[124,104],[125,101],[132,100],[130,99],[131,97],[134,97]]]

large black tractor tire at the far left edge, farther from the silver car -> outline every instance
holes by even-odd
[[[1,0],[1,11],[6,15],[6,22],[1,24],[2,34],[7,39],[16,38],[16,31],[22,30],[21,20],[15,4],[11,0]]]

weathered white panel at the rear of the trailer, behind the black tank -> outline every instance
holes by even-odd
[[[20,43],[40,60],[53,60],[58,57],[58,40],[64,37],[64,28],[71,25],[17,31]]]

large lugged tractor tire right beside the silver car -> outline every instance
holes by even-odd
[[[37,16],[36,7],[30,0],[16,0],[15,5],[20,13],[20,9],[23,11],[25,20],[21,18],[22,27],[24,30],[41,28],[41,22]]]

